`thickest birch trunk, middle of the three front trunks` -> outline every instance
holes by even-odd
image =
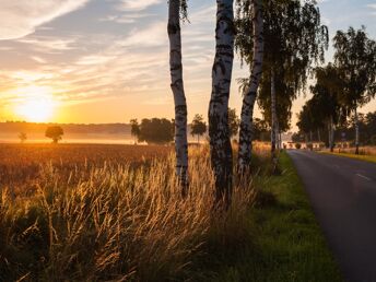
[[[231,201],[233,152],[228,127],[228,98],[234,61],[233,0],[216,0],[215,58],[209,105],[211,164],[215,177],[216,201]]]

